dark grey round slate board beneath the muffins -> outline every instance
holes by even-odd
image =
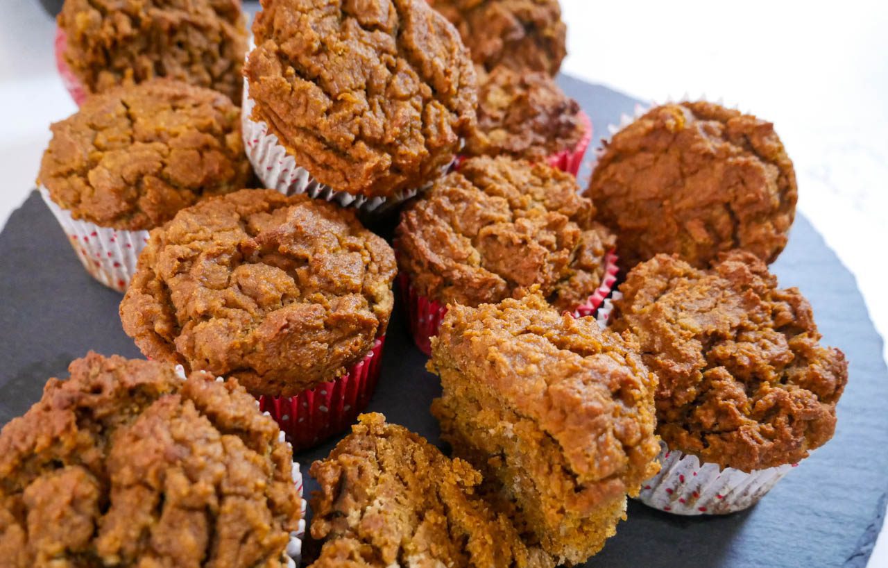
[[[562,76],[595,128],[592,150],[607,124],[630,114],[636,101],[599,85]],[[790,148],[791,150],[791,148]],[[581,181],[584,185],[584,181]],[[804,188],[802,189],[805,190]],[[670,516],[630,503],[629,521],[586,566],[849,566],[866,564],[882,526],[888,492],[888,372],[852,275],[810,223],[799,216],[789,246],[773,265],[781,286],[798,286],[811,300],[824,341],[842,348],[850,380],[838,405],[835,438],[792,470],[756,508],[725,517]],[[117,315],[121,296],[80,267],[52,214],[33,193],[0,234],[0,423],[25,412],[44,380],[66,376],[67,363],[89,349],[139,356]],[[439,442],[429,414],[438,381],[408,338],[395,308],[383,377],[369,410],[384,412]],[[297,460],[307,473],[337,439]],[[306,489],[316,488],[306,478]]]

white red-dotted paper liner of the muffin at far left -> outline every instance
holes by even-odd
[[[44,203],[50,208],[67,240],[93,278],[117,292],[125,292],[136,273],[139,252],[148,242],[148,231],[127,231],[99,227],[95,223],[76,220],[59,207],[46,188],[40,188]]]

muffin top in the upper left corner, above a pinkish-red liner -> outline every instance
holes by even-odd
[[[241,102],[240,0],[65,0],[62,53],[87,92],[169,77]]]

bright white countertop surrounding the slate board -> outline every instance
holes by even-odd
[[[884,337],[888,3],[561,4],[566,73],[642,100],[722,99],[776,124],[796,164],[799,209],[857,277]],[[0,226],[34,187],[49,124],[75,111],[55,72],[53,31],[36,0],[4,0]],[[885,534],[870,568],[888,567]]]

